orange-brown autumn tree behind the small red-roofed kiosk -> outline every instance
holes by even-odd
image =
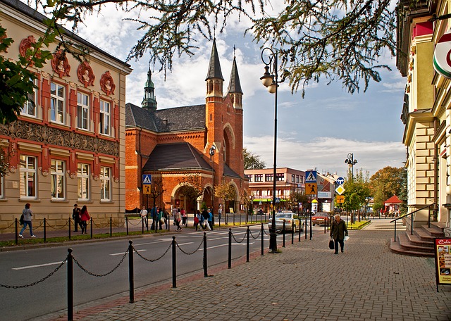
[[[407,204],[407,171],[404,168],[387,166],[378,170],[369,180],[371,194],[374,198],[373,210],[383,208],[383,202],[396,195]],[[405,211],[402,213],[405,213]]]

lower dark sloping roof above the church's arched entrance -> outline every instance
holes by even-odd
[[[211,165],[199,151],[185,142],[156,145],[142,170],[211,170]]]

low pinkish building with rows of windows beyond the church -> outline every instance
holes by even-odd
[[[273,201],[273,168],[263,170],[245,170],[249,178],[249,189],[252,193],[254,210],[261,209],[265,213],[271,212]],[[305,193],[305,172],[292,168],[276,169],[276,198],[280,201],[276,209],[289,209],[290,196],[294,193]],[[294,209],[294,208],[293,208]]]

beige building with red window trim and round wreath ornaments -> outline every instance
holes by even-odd
[[[18,55],[43,35],[44,15],[16,0],[0,0],[1,25],[13,38],[1,56]],[[94,220],[123,222],[125,210],[125,77],[130,65],[69,30],[63,39],[86,46],[89,63],[54,54],[37,75],[35,94],[17,121],[0,125],[0,146],[11,156],[0,178],[0,227],[11,226],[25,203],[34,220],[63,226],[73,204]],[[51,44],[54,50],[56,44]],[[13,227],[12,227],[13,229]]]

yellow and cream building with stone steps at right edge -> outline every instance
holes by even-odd
[[[431,215],[431,220],[438,221],[449,235],[451,73],[434,69],[434,51],[450,29],[451,20],[445,16],[450,9],[447,1],[411,5],[412,1],[405,1],[397,19],[397,68],[407,77],[401,115],[405,125],[403,143],[407,146],[407,204],[409,212],[419,210],[415,228],[427,223]],[[443,45],[451,50],[451,43]],[[451,65],[447,68],[451,71]],[[434,203],[431,211],[425,208]]]

